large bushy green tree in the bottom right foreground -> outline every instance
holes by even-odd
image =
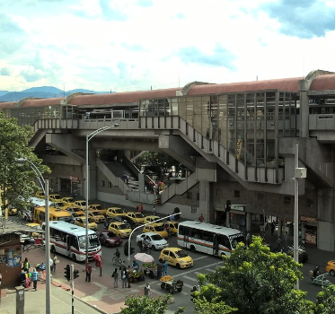
[[[285,253],[270,252],[261,241],[252,237],[249,249],[239,243],[231,257],[225,257],[225,266],[214,274],[198,275],[197,298],[224,301],[245,314],[313,313],[314,303],[305,300],[306,292],[294,289],[303,276],[301,265]]]

